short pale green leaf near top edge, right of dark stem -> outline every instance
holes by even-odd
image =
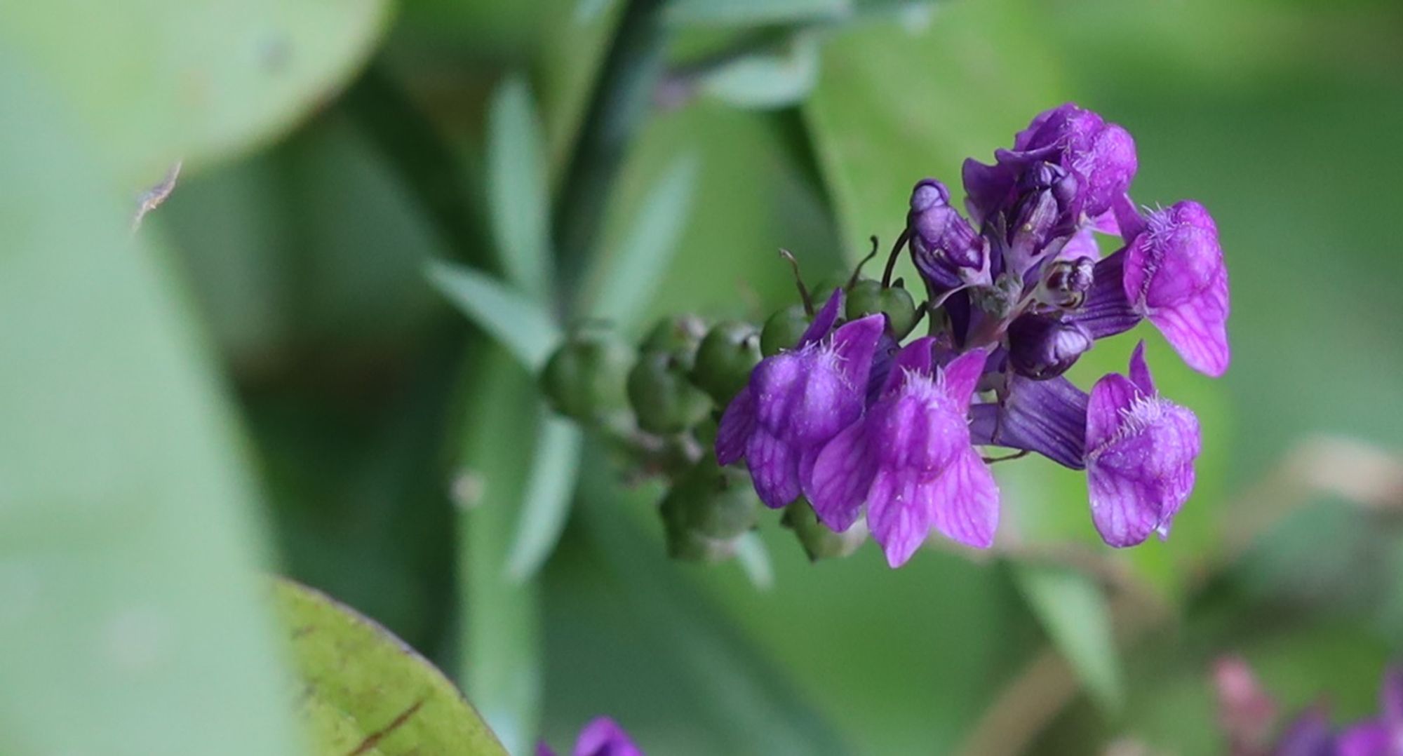
[[[741,108],[787,108],[818,84],[818,38],[796,35],[784,48],[738,58],[702,79],[702,91]]]

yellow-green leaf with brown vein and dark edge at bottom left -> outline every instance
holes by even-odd
[[[389,630],[288,579],[274,598],[318,753],[506,755],[453,683]]]

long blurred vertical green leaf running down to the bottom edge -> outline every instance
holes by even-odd
[[[484,345],[464,384],[453,478],[459,511],[459,680],[508,753],[526,753],[539,732],[542,661],[539,595],[504,565],[532,485],[532,428],[544,411],[535,380]]]

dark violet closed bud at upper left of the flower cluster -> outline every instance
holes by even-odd
[[[937,289],[972,282],[986,268],[986,243],[950,206],[950,191],[939,181],[926,178],[912,189],[906,230],[916,268]]]

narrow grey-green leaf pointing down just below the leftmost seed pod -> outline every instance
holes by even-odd
[[[556,548],[570,518],[584,442],[584,432],[574,421],[560,418],[549,410],[542,412],[516,536],[506,555],[509,579],[530,579]]]

